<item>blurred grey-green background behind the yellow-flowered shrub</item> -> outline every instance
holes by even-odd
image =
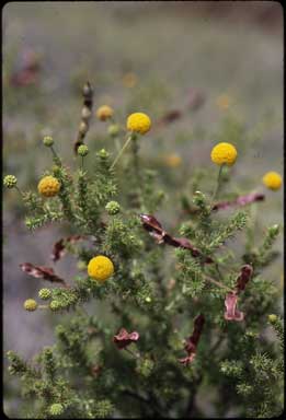
[[[273,1],[11,2],[2,14],[3,174],[22,190],[36,189],[52,163],[42,144],[52,135],[73,168],[72,144],[82,107],[81,88],[94,86],[94,110],[103,104],[124,125],[130,112],[146,112],[153,125],[141,141],[145,164],[158,171],[168,192],[162,212],[172,225],[176,187],[199,168],[215,179],[209,153],[218,141],[239,148],[233,192],[263,191],[261,232],[283,221],[283,192],[266,191],[267,171],[283,174],[283,10]],[[91,150],[114,153],[107,126],[92,118]],[[187,184],[186,184],[187,187]],[[209,178],[207,191],[213,188]],[[58,226],[35,233],[24,225],[15,190],[3,200],[4,351],[31,358],[53,343],[57,315],[32,316],[23,301],[36,298],[39,281],[21,272],[30,261],[52,266]],[[259,236],[260,237],[260,236]],[[258,237],[258,240],[259,240]],[[282,238],[276,244],[282,249]],[[68,256],[57,272],[70,277]],[[282,258],[268,273],[283,288]],[[5,385],[5,412],[19,404],[16,385]]]

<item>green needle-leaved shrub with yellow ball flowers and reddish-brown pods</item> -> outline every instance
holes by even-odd
[[[274,392],[273,383],[282,382],[283,359],[261,334],[267,315],[277,312],[277,288],[263,270],[276,257],[272,246],[279,226],[270,226],[254,248],[249,210],[261,206],[265,195],[244,191],[219,199],[239,150],[230,143],[213,148],[211,161],[219,166],[214,194],[182,191],[174,235],[155,215],[164,195],[157,190],[155,172],[140,162],[150,118],[134,113],[123,129],[114,110],[101,106],[96,116],[107,122],[117,155],[112,161],[103,149],[92,155],[84,143],[92,109],[89,83],[83,97],[75,144],[78,167],[68,170],[56,142],[54,149],[53,138],[45,137],[54,165],[37,192],[23,192],[13,175],[4,177],[5,187],[23,199],[28,230],[55,221],[70,225],[70,235],[55,238],[45,266],[32,259],[20,266],[44,283],[37,301],[27,299],[24,310],[31,316],[52,311],[59,323],[56,343],[34,360],[8,353],[10,373],[21,378],[24,416],[204,417],[204,390],[213,395],[217,416],[227,416],[230,408],[239,416],[278,413],[282,389]],[[267,176],[264,184],[278,189],[279,175]],[[225,209],[233,211],[226,217]],[[243,233],[245,249],[234,252],[230,240]],[[78,260],[73,279],[56,272],[66,253]],[[107,316],[85,312],[88,302],[91,310],[99,301],[105,302]],[[282,342],[279,318],[272,314],[270,319]]]

